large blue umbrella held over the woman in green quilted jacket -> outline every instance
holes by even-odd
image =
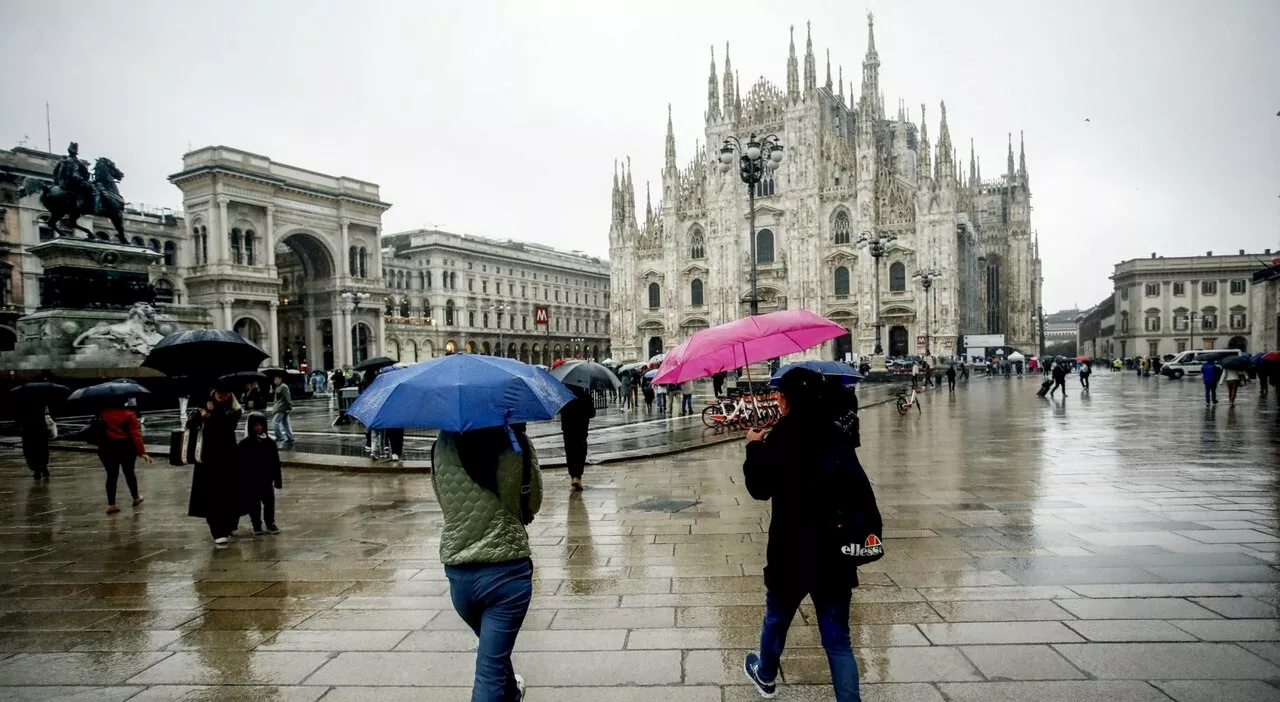
[[[379,375],[347,414],[370,429],[468,432],[552,419],[572,398],[539,368],[454,354]]]

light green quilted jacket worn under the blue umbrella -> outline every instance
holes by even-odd
[[[507,450],[498,459],[498,494],[476,484],[458,460],[454,434],[440,432],[433,448],[431,488],[444,512],[440,562],[444,565],[498,564],[527,559],[529,533],[520,523],[520,482],[524,459]],[[529,451],[534,447],[530,445]],[[529,505],[543,505],[543,477],[538,453],[531,455]]]

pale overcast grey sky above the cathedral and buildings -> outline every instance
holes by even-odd
[[[1048,309],[1088,306],[1121,259],[1280,250],[1280,3],[895,1],[881,85],[918,118],[947,101],[984,177],[1027,133]],[[374,181],[384,229],[422,225],[608,254],[613,159],[658,181],[667,102],[684,165],[703,137],[708,47],[746,90],[786,85],[813,22],[860,82],[858,3],[3,0],[0,143],[109,155],[133,202],[223,143]],[[785,13],[785,14],[780,14]],[[1085,122],[1085,118],[1089,122]],[[965,154],[965,159],[968,155]],[[643,216],[643,213],[641,213]]]

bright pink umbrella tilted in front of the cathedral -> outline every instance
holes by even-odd
[[[849,333],[840,324],[809,310],[782,310],[695,332],[667,352],[653,382],[675,384],[705,378],[787,354],[799,354]]]

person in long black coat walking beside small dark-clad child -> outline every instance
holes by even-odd
[[[214,544],[219,547],[230,542],[236,523],[248,511],[236,442],[242,414],[236,396],[216,389],[205,407],[188,421],[198,429],[201,438],[200,460],[191,474],[187,515],[204,518]]]

